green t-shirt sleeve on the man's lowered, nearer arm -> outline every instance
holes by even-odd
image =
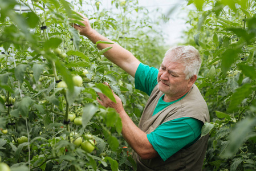
[[[161,124],[147,137],[165,161],[180,149],[192,145],[200,137],[202,125],[200,120],[182,117]]]

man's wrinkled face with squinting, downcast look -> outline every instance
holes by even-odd
[[[190,79],[185,79],[185,67],[181,63],[170,62],[165,58],[159,68],[157,75],[158,88],[165,93],[168,99],[175,99],[175,97],[182,97],[189,91],[192,84]]]

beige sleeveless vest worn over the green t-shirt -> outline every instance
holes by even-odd
[[[193,85],[193,88],[183,99],[152,116],[162,95],[163,93],[156,86],[148,99],[139,123],[139,128],[145,133],[151,133],[162,123],[180,117],[193,117],[203,123],[209,122],[207,104],[196,85]],[[160,156],[150,160],[143,160],[136,152],[133,152],[137,170],[202,170],[208,137],[209,135],[201,137],[189,148],[181,149],[166,161],[163,161]]]

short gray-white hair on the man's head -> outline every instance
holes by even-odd
[[[201,67],[201,58],[199,52],[193,46],[176,46],[170,48],[164,56],[169,58],[170,62],[178,62],[184,65],[186,80],[198,75]]]

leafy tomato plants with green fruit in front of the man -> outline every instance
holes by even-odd
[[[73,9],[141,62],[158,67],[165,47],[158,23],[148,22],[148,11],[137,1],[111,3],[116,11],[101,9],[101,1],[0,0],[0,128],[8,130],[0,133],[0,157],[11,170],[136,167],[131,147],[121,136],[118,113],[99,105],[96,97],[102,92],[115,101],[103,84],[108,82],[137,123],[147,95],[136,91],[133,78],[103,57],[111,47],[97,50],[97,44],[110,42],[93,44],[72,27],[72,22],[83,25]],[[72,77],[82,75],[84,69],[88,73],[83,85],[74,86]],[[67,88],[56,87],[60,80]],[[82,118],[82,125],[70,123],[69,113]],[[95,142],[92,153],[70,139],[86,141],[86,134]],[[28,142],[18,144],[22,136]]]

